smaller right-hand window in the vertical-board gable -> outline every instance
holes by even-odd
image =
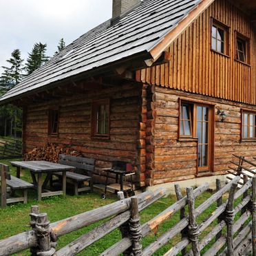
[[[249,63],[249,39],[242,34],[236,33],[236,60],[242,63]]]

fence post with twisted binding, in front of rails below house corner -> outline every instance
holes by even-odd
[[[132,255],[142,255],[142,245],[140,240],[142,238],[140,215],[138,212],[138,198],[131,198],[131,218],[129,220],[129,237],[132,241]]]

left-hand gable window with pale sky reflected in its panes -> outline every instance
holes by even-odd
[[[214,19],[211,28],[211,49],[228,55],[228,27]]]

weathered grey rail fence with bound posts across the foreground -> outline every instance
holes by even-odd
[[[76,255],[116,228],[119,228],[122,239],[101,255],[152,255],[180,234],[180,242],[165,255],[200,255],[203,249],[208,255],[256,255],[256,178],[248,180],[244,176],[244,184],[239,190],[238,181],[239,177],[221,188],[220,180],[217,180],[217,191],[196,209],[196,198],[209,189],[209,184],[195,190],[187,188],[184,197],[180,187],[175,185],[178,201],[145,224],[140,224],[139,212],[160,199],[164,190],[145,192],[128,199],[122,198],[120,193],[118,202],[52,224],[47,220],[46,213],[39,213],[39,208],[32,206],[32,230],[1,240],[0,255],[10,255],[28,248],[32,255]],[[226,195],[228,198],[224,200]],[[213,204],[216,206],[213,207]],[[215,208],[214,211],[198,223],[198,216],[209,207]],[[142,248],[141,239],[151,231],[157,233],[158,226],[178,212],[180,222],[170,226],[155,242]],[[57,237],[109,217],[111,219],[99,224],[92,231],[56,250]],[[202,235],[209,226],[211,229],[206,235]]]

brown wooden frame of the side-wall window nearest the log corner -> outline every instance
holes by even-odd
[[[107,134],[97,134],[97,109],[100,105],[108,105],[108,118],[107,118]],[[92,127],[91,127],[91,137],[92,139],[105,139],[109,140],[110,138],[110,98],[98,99],[92,101]]]

